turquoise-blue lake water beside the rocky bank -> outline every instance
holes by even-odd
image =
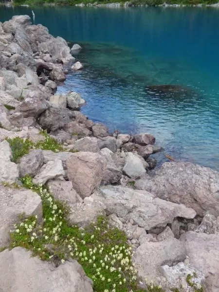
[[[58,91],[78,91],[82,112],[124,133],[150,132],[165,154],[219,170],[219,10],[34,8],[36,23],[80,43],[85,69]],[[0,21],[30,8],[0,7]],[[186,91],[151,90],[179,85]],[[154,89],[154,87],[153,87]],[[158,154],[164,162],[164,154]]]

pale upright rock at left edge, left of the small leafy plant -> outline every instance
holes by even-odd
[[[15,183],[18,180],[18,166],[11,162],[12,153],[9,143],[4,140],[0,143],[0,183]]]

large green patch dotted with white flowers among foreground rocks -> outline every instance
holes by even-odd
[[[110,226],[103,216],[84,229],[71,225],[68,207],[56,201],[45,186],[34,184],[28,176],[21,182],[41,197],[43,219],[38,224],[36,216],[21,216],[10,234],[11,248],[21,246],[56,266],[69,258],[76,259],[93,280],[95,292],[144,291],[137,287],[132,250],[123,231]]]

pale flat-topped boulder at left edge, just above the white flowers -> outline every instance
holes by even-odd
[[[21,213],[27,216],[37,215],[40,221],[42,218],[40,197],[31,190],[18,190],[0,185],[0,247],[8,243],[9,231]]]

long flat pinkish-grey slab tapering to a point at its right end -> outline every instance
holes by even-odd
[[[146,191],[133,190],[122,186],[101,187],[91,195],[94,201],[106,205],[107,212],[125,220],[132,219],[135,224],[150,230],[154,227],[165,227],[174,218],[193,219],[196,212],[182,204],[175,204],[154,198]]]

